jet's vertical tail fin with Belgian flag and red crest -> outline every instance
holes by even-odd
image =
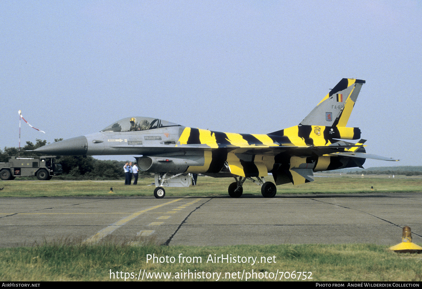
[[[343,78],[299,125],[346,127],[364,80]]]

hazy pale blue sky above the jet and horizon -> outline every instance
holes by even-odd
[[[422,2],[0,1],[0,148],[149,116],[224,132],[297,125],[341,78],[365,167],[422,165]],[[100,157],[98,157],[100,158]],[[106,156],[100,159],[122,159]]]

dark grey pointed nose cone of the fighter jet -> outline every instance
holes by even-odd
[[[84,135],[67,140],[60,140],[56,143],[50,143],[34,151],[41,154],[55,154],[59,156],[78,156],[87,154],[88,140]]]

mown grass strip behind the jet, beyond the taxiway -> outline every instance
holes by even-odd
[[[272,181],[271,176],[267,177]],[[197,186],[188,188],[166,188],[166,196],[216,196],[227,195],[227,188],[233,178],[199,177]],[[113,195],[151,196],[155,186],[147,186],[153,178],[138,180],[136,186],[124,186],[122,181],[50,181],[18,180],[0,181],[0,197],[55,197],[55,196],[106,196],[113,188]],[[373,190],[371,190],[373,186]],[[281,194],[345,194],[369,192],[422,192],[422,178],[385,178],[385,177],[316,177],[314,182],[293,186],[277,186],[277,195]],[[246,181],[243,195],[260,195],[260,186]]]

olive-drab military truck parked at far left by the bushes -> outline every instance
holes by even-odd
[[[0,162],[0,179],[36,176],[40,181],[51,179],[63,173],[59,159],[52,156],[11,157],[9,162]]]

